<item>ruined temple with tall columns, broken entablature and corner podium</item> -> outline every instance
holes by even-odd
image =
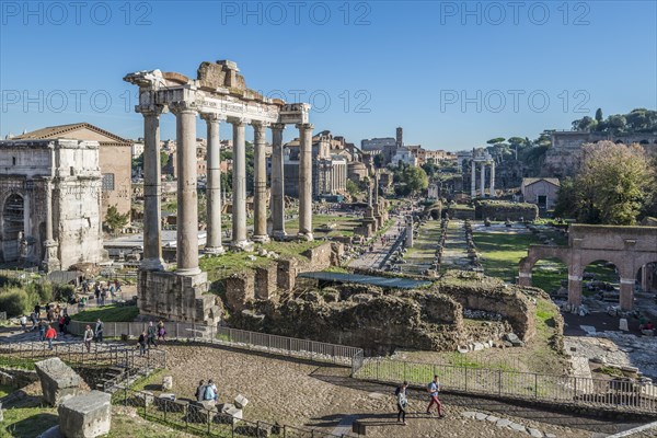
[[[198,211],[196,193],[196,117],[207,124],[207,243],[205,252],[221,254],[221,187],[219,126],[232,125],[232,238],[233,250],[250,250],[267,242],[267,180],[265,134],[272,129],[272,238],[286,238],[283,130],[299,129],[299,238],[312,240],[312,128],[310,105],[286,104],[250,90],[235,62],[201,62],[197,79],[160,70],[127,74],[139,87],[136,112],[143,116],[143,261],[139,274],[140,313],[177,321],[218,321],[216,297],[207,291],[207,275],[198,264]],[[160,116],[168,111],[176,119],[177,233],[176,270],[164,272],[161,246]],[[246,233],[245,129],[254,130],[254,231]]]

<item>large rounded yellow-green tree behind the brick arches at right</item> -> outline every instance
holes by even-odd
[[[611,141],[583,149],[581,168],[572,184],[562,186],[555,215],[568,212],[586,223],[635,223],[656,189],[656,170],[645,150]]]

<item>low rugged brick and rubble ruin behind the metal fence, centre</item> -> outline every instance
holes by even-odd
[[[523,341],[535,333],[531,299],[519,290],[503,289],[497,283],[394,291],[364,285],[320,290],[316,280],[314,286],[309,281],[304,285],[295,293],[286,293],[280,302],[253,298],[240,303],[232,309],[230,324],[357,346],[374,355],[390,354],[400,347],[456,350],[460,345],[498,341],[510,332]],[[465,324],[463,309],[496,313],[503,319]]]

